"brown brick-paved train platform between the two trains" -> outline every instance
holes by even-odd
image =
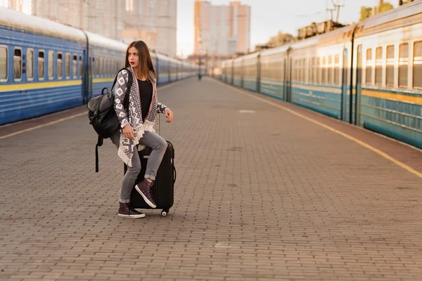
[[[420,280],[421,150],[210,77],[158,96],[166,217],[117,216],[86,107],[0,127],[0,280]]]

